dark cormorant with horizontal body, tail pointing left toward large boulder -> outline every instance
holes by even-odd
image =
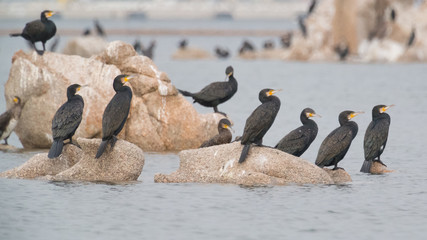
[[[237,92],[237,80],[234,78],[234,70],[232,66],[225,69],[225,74],[228,77],[227,82],[213,82],[204,87],[200,92],[190,93],[178,89],[178,91],[188,97],[192,97],[194,102],[198,102],[205,107],[213,107],[216,113],[225,113],[218,111],[218,105],[230,99]]]

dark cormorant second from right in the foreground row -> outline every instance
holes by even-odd
[[[357,123],[350,120],[360,113],[363,112],[344,111],[340,113],[338,120],[341,126],[323,140],[317,154],[317,166],[322,168],[334,165],[333,170],[339,169],[338,162],[344,158],[358,131]]]

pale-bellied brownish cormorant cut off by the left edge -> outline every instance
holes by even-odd
[[[21,116],[21,99],[19,97],[13,98],[14,105],[0,115],[0,140],[4,139],[5,145],[8,145],[7,139],[12,131],[18,124],[19,117]]]

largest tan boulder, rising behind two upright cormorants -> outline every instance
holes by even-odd
[[[134,93],[129,118],[119,138],[145,151],[176,151],[195,148],[217,133],[219,114],[198,114],[178,94],[168,76],[133,47],[116,41],[92,58],[34,51],[15,53],[5,97],[21,97],[25,106],[15,128],[25,148],[49,148],[51,121],[66,101],[66,88],[88,85],[79,92],[85,101],[83,120],[75,137],[101,137],[102,114],[112,96],[113,79],[123,73],[134,75]]]

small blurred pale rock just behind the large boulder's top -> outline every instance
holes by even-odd
[[[81,36],[71,39],[64,50],[67,55],[78,55],[89,58],[102,53],[107,48],[108,42],[98,36]]]

